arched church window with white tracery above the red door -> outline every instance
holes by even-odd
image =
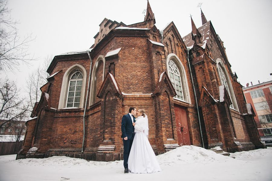
[[[174,54],[170,53],[167,56],[167,71],[168,77],[176,90],[175,98],[183,100],[187,103],[191,103],[187,77],[184,66],[180,62],[180,59]]]

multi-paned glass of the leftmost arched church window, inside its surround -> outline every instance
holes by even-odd
[[[69,79],[66,107],[79,107],[83,75],[80,71],[74,72]]]

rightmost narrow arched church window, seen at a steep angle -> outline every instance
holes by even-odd
[[[230,96],[231,101],[232,101],[230,108],[238,111],[238,106],[237,106],[236,98],[235,98],[234,91],[232,88],[232,84],[229,81],[228,75],[226,73],[226,70],[225,70],[221,60],[217,61],[217,68],[218,68],[221,83],[222,83],[222,85],[225,86],[226,90],[228,91],[228,95]]]

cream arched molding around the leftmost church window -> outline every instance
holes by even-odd
[[[73,71],[75,69],[78,69],[79,71],[81,71],[82,75],[83,75],[79,108],[83,108],[83,106],[84,106],[87,72],[82,65],[74,64],[71,67],[69,67],[63,75],[58,109],[66,108],[66,98],[67,98],[67,89],[68,89],[68,84],[69,84],[69,78],[70,78],[71,73],[73,73]]]

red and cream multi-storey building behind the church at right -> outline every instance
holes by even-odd
[[[256,114],[254,119],[262,140],[272,142],[272,81],[245,87],[243,91]]]

